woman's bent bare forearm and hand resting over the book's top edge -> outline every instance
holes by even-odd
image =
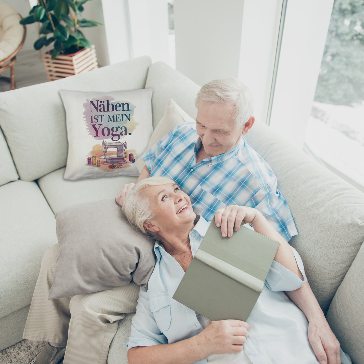
[[[274,260],[296,274],[303,280],[302,273],[298,268],[296,258],[288,242],[277,233],[268,220],[257,209],[252,207],[230,205],[219,209],[215,214],[215,223],[217,227],[221,226],[223,237],[231,237],[234,231],[240,229],[240,225],[249,223],[254,227],[257,233],[260,233],[279,243],[279,247]]]

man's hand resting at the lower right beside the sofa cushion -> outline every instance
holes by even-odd
[[[326,319],[312,321],[308,324],[308,340],[318,362],[320,364],[341,364],[340,343]]]

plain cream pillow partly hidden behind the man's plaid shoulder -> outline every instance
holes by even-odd
[[[183,111],[181,107],[179,107],[172,99],[170,99],[163,118],[153,131],[147,149],[160,141],[175,126],[191,121],[195,120],[191,118],[191,116],[185,111]],[[145,163],[142,158],[139,158],[138,161],[135,162],[135,165],[137,166],[139,172],[141,172],[145,166]]]

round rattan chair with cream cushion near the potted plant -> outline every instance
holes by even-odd
[[[23,47],[26,27],[19,24],[21,16],[10,5],[0,1],[0,72],[10,68],[10,90],[15,88],[14,66],[16,54]]]

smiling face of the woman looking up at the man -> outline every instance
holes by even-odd
[[[175,183],[148,186],[143,192],[149,199],[150,209],[155,215],[150,222],[158,226],[161,232],[190,226],[196,218],[189,196]]]

